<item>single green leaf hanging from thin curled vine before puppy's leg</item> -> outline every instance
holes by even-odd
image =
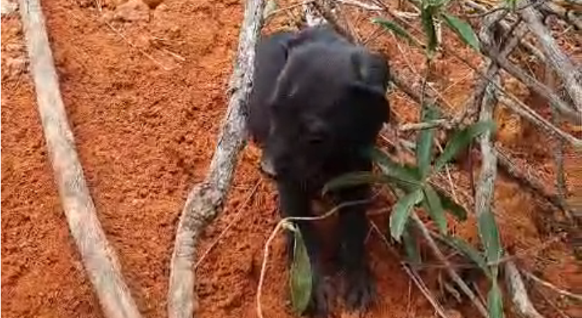
[[[291,303],[298,314],[304,312],[311,297],[312,273],[311,263],[301,231],[293,231],[294,249],[291,264],[289,285],[291,288]]]

